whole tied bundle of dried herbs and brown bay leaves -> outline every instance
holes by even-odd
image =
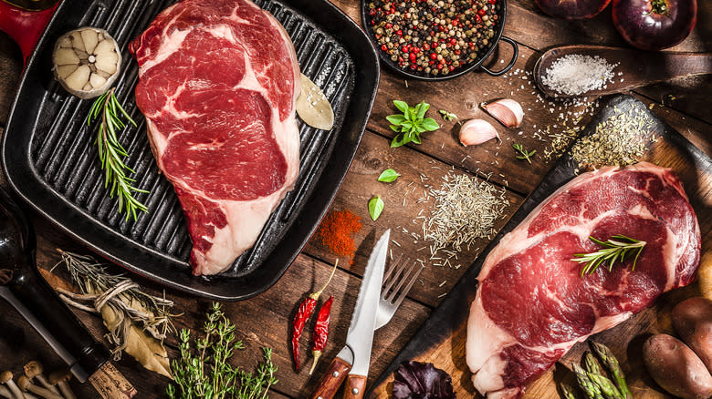
[[[163,347],[167,333],[175,333],[169,312],[173,302],[141,291],[141,287],[122,275],[111,275],[106,265],[90,256],[58,250],[59,264],[69,271],[81,293],[58,288],[59,297],[69,305],[97,313],[109,330],[111,353],[120,360],[121,352],[133,356],[143,367],[171,377],[168,353]]]

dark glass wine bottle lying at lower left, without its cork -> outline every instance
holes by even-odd
[[[109,352],[39,274],[35,244],[25,215],[0,189],[0,298],[37,330],[83,383],[109,360]]]

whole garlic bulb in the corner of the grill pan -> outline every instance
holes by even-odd
[[[80,27],[59,37],[52,62],[59,84],[87,99],[104,94],[119,77],[121,53],[107,31]]]

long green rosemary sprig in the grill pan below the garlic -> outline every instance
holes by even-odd
[[[134,187],[133,183],[136,180],[127,176],[127,172],[131,172],[131,174],[136,172],[123,162],[123,159],[129,154],[121,146],[117,137],[119,131],[126,127],[120,116],[127,118],[134,127],[136,122],[121,107],[119,100],[114,95],[113,87],[94,101],[89,110],[89,117],[87,117],[87,126],[91,126],[91,122],[95,121],[99,115],[101,121],[94,144],[99,149],[101,169],[105,171],[104,188],[108,188],[111,184],[109,195],[114,198],[114,193],[118,193],[119,211],[121,212],[125,207],[126,220],[129,220],[129,215],[133,215],[133,220],[136,220],[136,210],[148,212],[148,209],[134,197],[134,194],[147,193],[148,191]]]

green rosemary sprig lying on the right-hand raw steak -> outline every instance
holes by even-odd
[[[612,236],[611,239],[605,241],[596,240],[593,237],[589,238],[603,248],[591,253],[577,253],[573,255],[574,258],[571,259],[571,261],[584,263],[583,269],[581,269],[581,277],[586,273],[592,274],[602,263],[606,262],[608,262],[608,270],[612,271],[615,261],[623,262],[632,252],[635,252],[635,258],[633,259],[633,268],[631,270],[635,270],[635,263],[638,261],[638,257],[646,244],[645,241],[635,240],[623,234],[616,234]]]

